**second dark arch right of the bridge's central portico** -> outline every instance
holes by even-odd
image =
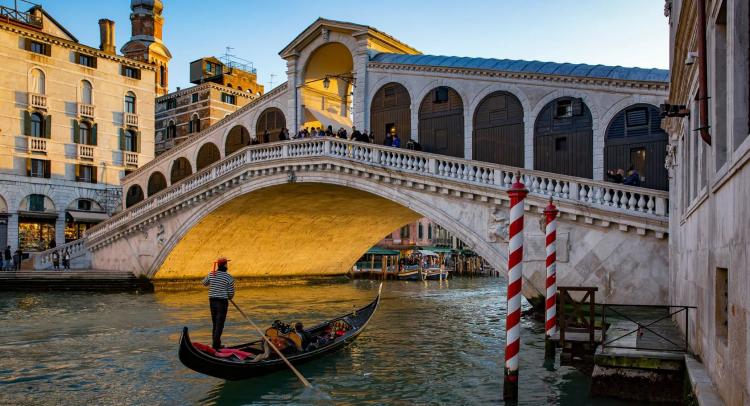
[[[401,145],[406,145],[402,140]],[[464,102],[453,88],[430,90],[419,106],[422,150],[458,158],[464,156]]]

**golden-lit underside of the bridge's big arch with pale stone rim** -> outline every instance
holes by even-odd
[[[501,244],[482,235],[486,222],[477,227],[465,221],[465,200],[445,197],[440,205],[430,196],[354,176],[306,177],[297,183],[288,183],[286,174],[269,177],[194,210],[155,255],[149,276],[202,277],[220,255],[231,257],[235,276],[340,274],[383,236],[420,217],[434,220],[493,267],[505,269]],[[479,211],[488,216],[491,207],[484,205],[486,210]],[[330,207],[358,209],[322,210]],[[474,217],[481,218],[475,223],[486,221]]]

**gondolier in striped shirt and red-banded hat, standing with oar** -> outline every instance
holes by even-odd
[[[203,286],[208,286],[208,304],[211,308],[213,331],[211,338],[214,349],[221,349],[221,333],[227,319],[229,300],[234,297],[234,278],[227,272],[228,259],[218,258],[214,269],[203,278]]]

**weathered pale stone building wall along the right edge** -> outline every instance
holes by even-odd
[[[664,121],[672,148],[670,300],[697,307],[689,326],[678,318],[692,351],[726,404],[747,405],[750,4],[668,0],[665,12],[672,72],[672,117]]]

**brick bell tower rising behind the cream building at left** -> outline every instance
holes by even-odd
[[[164,17],[161,0],[130,0],[130,41],[120,52],[128,58],[156,65],[156,97],[169,93],[169,60],[172,54],[162,42]]]

